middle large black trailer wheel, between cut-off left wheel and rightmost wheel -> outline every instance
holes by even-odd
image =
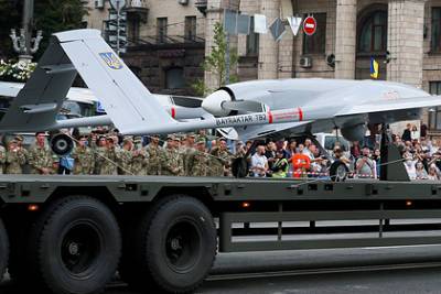
[[[114,276],[121,236],[115,216],[101,202],[65,198],[42,215],[35,230],[34,266],[52,292],[96,293]]]

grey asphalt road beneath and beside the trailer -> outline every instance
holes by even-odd
[[[408,265],[390,269],[395,264]],[[277,276],[275,271],[283,271],[284,275]],[[441,246],[223,253],[216,260],[213,274],[196,293],[439,294],[440,271]],[[262,276],[252,277],[262,272]],[[0,286],[0,293],[22,294],[4,285]],[[106,294],[140,293],[116,283],[109,285]]]

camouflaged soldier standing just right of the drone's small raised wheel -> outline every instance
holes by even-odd
[[[82,137],[78,145],[72,151],[74,159],[74,175],[92,175],[95,168],[95,153],[87,146],[87,138]]]

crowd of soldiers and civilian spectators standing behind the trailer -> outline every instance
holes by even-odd
[[[423,129],[423,128],[422,128]],[[74,135],[75,137],[75,135]],[[381,168],[379,135],[374,140],[351,142],[349,150],[335,141],[326,152],[309,138],[259,141],[228,141],[197,133],[131,138],[117,130],[98,129],[76,135],[72,153],[60,156],[50,150],[44,134],[35,143],[23,146],[18,135],[0,150],[2,171],[10,174],[133,174],[232,176],[233,162],[243,157],[251,177],[330,178],[331,164],[346,164],[351,177],[378,178]],[[402,154],[411,179],[440,179],[441,149],[437,140],[426,138],[408,124],[401,134],[392,134],[392,143]],[[387,164],[387,163],[385,163]],[[28,168],[24,166],[28,165]]]

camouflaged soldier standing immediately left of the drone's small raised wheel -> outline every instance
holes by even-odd
[[[35,144],[29,150],[29,164],[32,174],[49,175],[53,171],[52,151],[46,145],[44,132],[35,134]]]

